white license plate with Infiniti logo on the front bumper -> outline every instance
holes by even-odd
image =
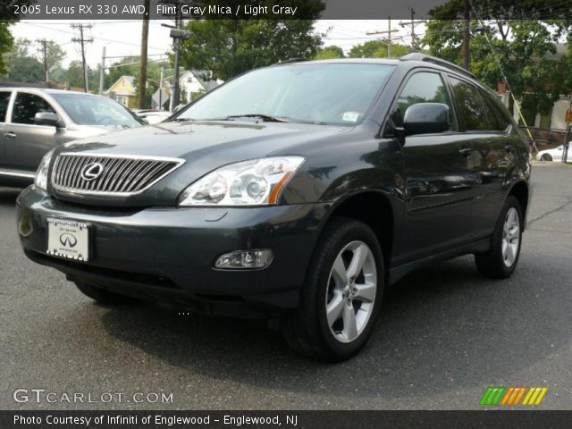
[[[76,261],[89,259],[89,225],[63,219],[47,220],[46,253]]]

